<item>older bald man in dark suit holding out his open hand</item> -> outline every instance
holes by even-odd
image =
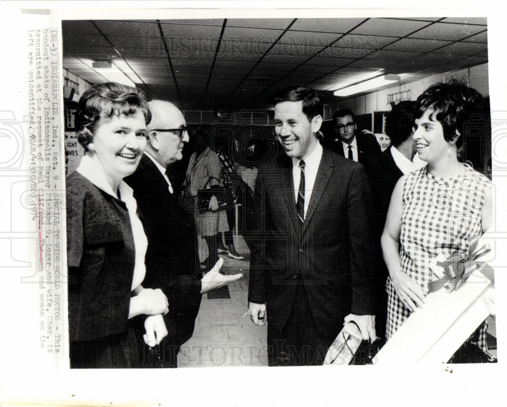
[[[169,334],[158,349],[143,345],[139,367],[176,367],[179,348],[194,331],[202,292],[236,281],[241,275],[224,276],[215,269],[202,277],[195,221],[182,207],[180,186],[170,179],[167,170],[183,158],[183,147],[189,141],[187,124],[172,103],[153,100],[148,104],[152,120],[146,151],[136,171],[125,181],[134,190],[148,238],[142,284],[160,287],[166,294],[169,313],[164,320]]]

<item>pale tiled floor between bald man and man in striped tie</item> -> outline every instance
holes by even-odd
[[[203,295],[194,335],[178,354],[178,367],[267,366],[266,326],[254,325],[246,314],[250,253],[241,236],[234,236],[236,250],[245,256],[234,260],[227,254],[224,274],[243,273],[229,285],[230,299]]]

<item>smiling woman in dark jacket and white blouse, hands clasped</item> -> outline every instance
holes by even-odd
[[[128,86],[98,84],[79,101],[86,156],[66,182],[71,367],[137,367],[142,320],[149,345],[167,335],[167,298],[141,285],[147,239],[123,181],[137,168],[149,121],[146,100]]]

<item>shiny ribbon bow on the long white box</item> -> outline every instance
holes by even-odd
[[[480,271],[489,280],[494,281],[493,268],[478,259],[491,251],[489,244],[479,245],[479,237],[470,241],[468,252],[463,255],[453,252],[444,262],[437,262],[437,266],[444,269],[444,276],[428,284],[429,292],[438,291],[442,286],[447,291],[457,290],[474,271]]]

